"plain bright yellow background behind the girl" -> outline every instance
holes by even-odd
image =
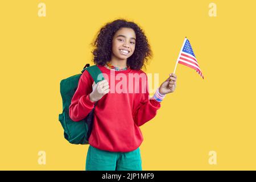
[[[46,17],[38,4],[46,4]],[[210,17],[209,3],[217,5]],[[141,126],[143,170],[256,169],[255,1],[1,1],[0,169],[84,170],[88,145],[69,144],[58,120],[60,81],[92,64],[107,22],[143,28],[147,73],[174,71],[184,36],[205,79],[178,64],[177,88]],[[156,135],[155,135],[156,134]],[[46,151],[46,165],[38,152]],[[217,164],[208,163],[209,151]]]

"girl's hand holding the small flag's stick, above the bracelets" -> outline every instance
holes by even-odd
[[[168,77],[167,80],[164,81],[159,87],[159,92],[162,94],[174,92],[177,86],[176,84],[177,76],[174,73],[171,73],[169,76],[170,77]]]

